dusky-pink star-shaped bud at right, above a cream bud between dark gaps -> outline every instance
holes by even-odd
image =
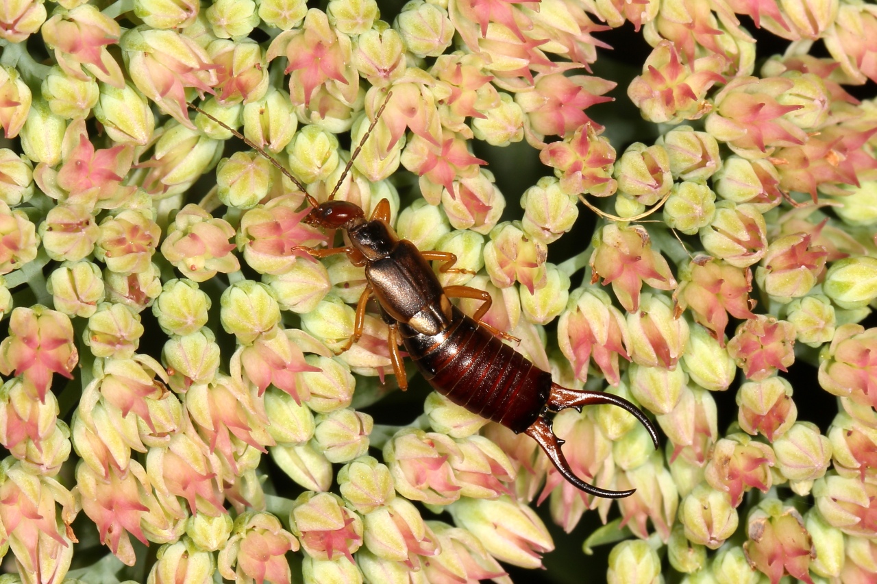
[[[743,369],[746,379],[760,381],[787,371],[795,362],[795,327],[774,317],[758,317],[737,327],[728,341],[728,354]]]

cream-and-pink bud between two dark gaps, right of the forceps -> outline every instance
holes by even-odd
[[[792,384],[777,376],[740,385],[737,405],[740,427],[753,436],[761,433],[770,442],[788,431],[798,417]]]

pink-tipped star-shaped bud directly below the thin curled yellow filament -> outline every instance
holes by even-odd
[[[652,250],[645,227],[608,224],[595,237],[595,249],[590,259],[591,281],[595,283],[602,278],[603,286],[611,283],[612,291],[624,310],[638,310],[643,282],[661,290],[676,288],[667,260]]]

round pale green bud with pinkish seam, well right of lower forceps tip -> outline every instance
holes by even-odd
[[[695,487],[679,506],[678,519],[685,537],[698,545],[717,550],[737,530],[739,517],[731,496],[709,485]]]

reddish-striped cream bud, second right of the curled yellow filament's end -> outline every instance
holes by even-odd
[[[731,266],[747,267],[764,257],[767,247],[765,218],[751,204],[723,201],[716,215],[701,229],[701,243],[709,254]]]

